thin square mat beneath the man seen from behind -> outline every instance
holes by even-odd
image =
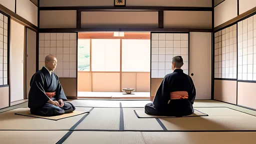
[[[175,118],[176,116],[158,116],[158,115],[149,115],[145,113],[144,109],[134,110],[134,113],[138,118]],[[202,113],[196,109],[194,109],[194,113],[182,117],[194,117],[194,116],[208,116],[205,113]]]

